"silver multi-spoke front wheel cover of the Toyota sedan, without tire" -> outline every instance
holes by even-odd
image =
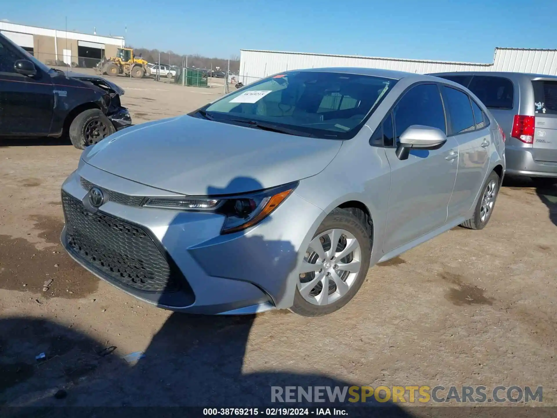
[[[310,242],[299,269],[298,290],[314,305],[328,305],[354,284],[361,266],[360,243],[343,229],[321,232]]]

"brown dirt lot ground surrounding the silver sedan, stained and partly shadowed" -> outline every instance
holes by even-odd
[[[223,91],[116,82],[134,123]],[[196,317],[139,303],[62,250],[60,186],[79,154],[0,143],[0,406],[268,405],[270,385],[345,384],[543,386],[543,405],[557,405],[557,188],[507,182],[485,230],[455,228],[374,266],[328,317]]]

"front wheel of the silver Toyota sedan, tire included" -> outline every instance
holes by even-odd
[[[369,239],[371,232],[369,217],[360,210],[348,211],[336,208],[329,213],[321,222],[306,250],[304,263],[299,270],[294,305],[290,310],[305,317],[318,317],[335,312],[350,302],[368,273],[372,254]],[[335,252],[331,252],[331,238],[335,240],[335,237],[339,237],[339,240]],[[356,241],[357,246],[353,245],[353,240]],[[348,251],[351,251],[343,255],[342,252],[347,247]],[[334,255],[339,255],[341,258],[334,259]],[[359,264],[356,264],[355,262],[358,261]],[[312,267],[311,264],[316,266]],[[341,269],[340,266],[343,264],[350,265],[351,271]],[[317,270],[320,267],[323,268]],[[356,270],[356,267],[359,269]],[[308,268],[310,270],[307,270]],[[344,285],[339,287],[340,283]]]

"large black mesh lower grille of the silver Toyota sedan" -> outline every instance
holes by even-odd
[[[165,293],[179,290],[184,276],[171,268],[144,229],[105,213],[90,213],[65,192],[62,203],[67,242],[80,259],[135,289]]]

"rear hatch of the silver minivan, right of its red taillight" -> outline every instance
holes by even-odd
[[[557,162],[557,80],[532,80],[535,129],[532,157]]]

